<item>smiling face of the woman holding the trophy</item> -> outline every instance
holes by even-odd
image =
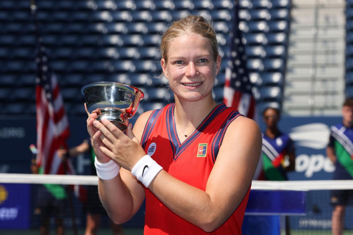
[[[167,62],[162,58],[161,65],[179,100],[197,101],[212,94],[221,57],[218,55],[214,61],[208,39],[196,34],[182,35],[169,43],[167,51]]]

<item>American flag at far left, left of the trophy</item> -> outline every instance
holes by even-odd
[[[64,110],[59,84],[49,66],[46,50],[37,37],[36,50],[36,110],[37,110],[37,165],[44,174],[66,174],[73,169],[68,161],[57,154],[59,148],[67,148],[70,135],[68,119]]]

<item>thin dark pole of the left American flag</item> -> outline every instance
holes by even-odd
[[[35,21],[37,40],[38,40],[38,43],[41,43],[42,39],[41,39],[41,35],[40,35],[40,27],[39,27],[39,22],[37,20],[37,6],[35,5],[35,1],[34,0],[30,0],[30,9],[31,9],[31,14],[32,14],[32,16],[34,18],[34,21]],[[67,159],[65,159],[65,162],[63,162],[65,172],[67,170],[66,163],[67,163]],[[64,187],[64,188],[65,188],[65,191],[66,191],[66,194],[67,194],[68,207],[70,208],[73,233],[74,233],[74,235],[77,235],[78,233],[77,233],[77,226],[76,226],[76,218],[75,218],[75,215],[74,215],[73,201],[72,201],[72,197],[71,197],[71,192],[68,190],[68,187]]]

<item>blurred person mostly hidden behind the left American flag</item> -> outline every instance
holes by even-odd
[[[43,174],[43,169],[38,167],[35,156],[36,148],[30,146],[33,158],[31,159],[32,174]],[[56,235],[64,234],[64,216],[67,208],[67,194],[64,186],[59,184],[43,184],[37,187],[37,205],[35,215],[40,216],[40,235],[48,235],[50,232],[50,218],[55,218]]]

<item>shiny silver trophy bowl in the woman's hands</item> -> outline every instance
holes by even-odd
[[[127,129],[128,119],[137,111],[143,92],[118,82],[94,82],[81,89],[88,111],[99,109],[96,120],[108,119],[121,131]]]

